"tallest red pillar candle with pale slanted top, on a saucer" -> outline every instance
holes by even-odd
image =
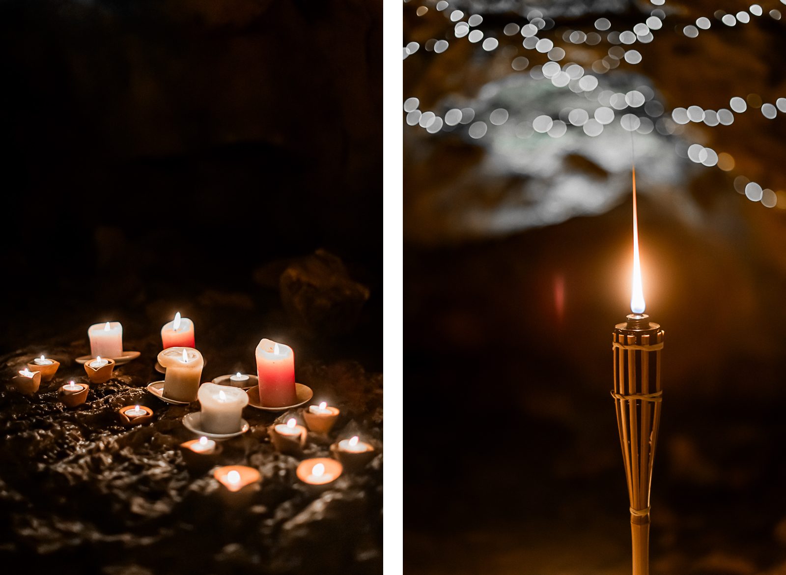
[[[296,403],[295,353],[288,345],[269,339],[256,346],[259,403],[264,407],[286,407]]]

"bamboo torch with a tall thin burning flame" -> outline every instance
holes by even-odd
[[[636,214],[636,170],[634,181],[634,271],[633,294],[625,323],[614,328],[614,389],[619,442],[630,499],[630,533],[633,540],[633,575],[649,573],[649,492],[652,462],[660,422],[660,354],[663,330],[644,313],[641,265],[638,252]]]

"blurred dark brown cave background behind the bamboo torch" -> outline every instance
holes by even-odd
[[[729,28],[714,10],[748,5],[721,4],[667,2],[654,41],[626,46],[641,51],[641,65],[623,63],[602,80],[641,74],[634,81],[656,90],[667,116],[692,104],[728,108],[736,95],[784,97],[783,60],[775,56],[786,49],[784,22],[766,16],[784,6],[762,3],[764,17]],[[421,5],[429,11],[418,17]],[[601,16],[612,30],[630,30],[656,6],[450,2],[441,13],[430,3],[406,3],[403,44],[417,41],[420,49],[403,63],[402,100],[417,97],[422,111],[443,117],[472,105],[475,120],[487,123],[497,107],[509,109],[509,123],[516,112],[516,121],[544,112],[527,78],[545,56],[523,50],[520,35],[502,34],[505,24],[526,24],[531,8],[555,20],[542,37],[565,48],[560,64],[588,66],[609,45],[574,48],[558,39],[562,31],[593,31]],[[447,19],[454,9],[465,21],[483,15],[477,28],[500,48],[487,53],[454,38]],[[712,20],[709,31],[697,39],[679,32],[701,16]],[[429,39],[443,38],[446,52],[425,49]],[[531,60],[521,75],[526,89],[504,106],[487,104],[501,97],[483,87],[511,79],[510,63],[520,55]],[[786,198],[780,191],[778,205],[766,208],[733,186],[746,175],[786,189],[784,122],[781,112],[766,120],[749,109],[728,127],[692,123],[668,138],[634,136],[637,164],[642,173],[649,168],[639,182],[647,312],[666,331],[652,573],[786,569]],[[505,127],[489,125],[479,140],[467,128],[432,135],[403,125],[406,570],[630,573],[629,503],[608,394],[612,329],[630,313],[630,136],[616,138],[608,127],[608,139],[590,140],[569,128],[561,140],[523,140],[531,147],[512,149],[510,157],[524,162],[563,142],[553,154],[557,171],[575,175],[578,194],[600,186],[611,199],[561,223],[533,226],[522,218],[498,230],[483,217],[514,209],[538,215],[543,202],[527,186],[545,182],[548,197],[556,184],[539,175],[542,165],[498,168],[516,142],[497,136]],[[568,139],[576,131],[578,138]],[[498,138],[493,146],[490,138]],[[680,142],[730,153],[736,167],[697,166],[674,153]],[[615,169],[596,164],[593,146],[623,159]]]

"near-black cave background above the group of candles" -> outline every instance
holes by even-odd
[[[371,288],[380,368],[379,3],[3,2],[0,28],[0,349],[176,309],[199,330],[200,294],[272,305],[323,248]]]

